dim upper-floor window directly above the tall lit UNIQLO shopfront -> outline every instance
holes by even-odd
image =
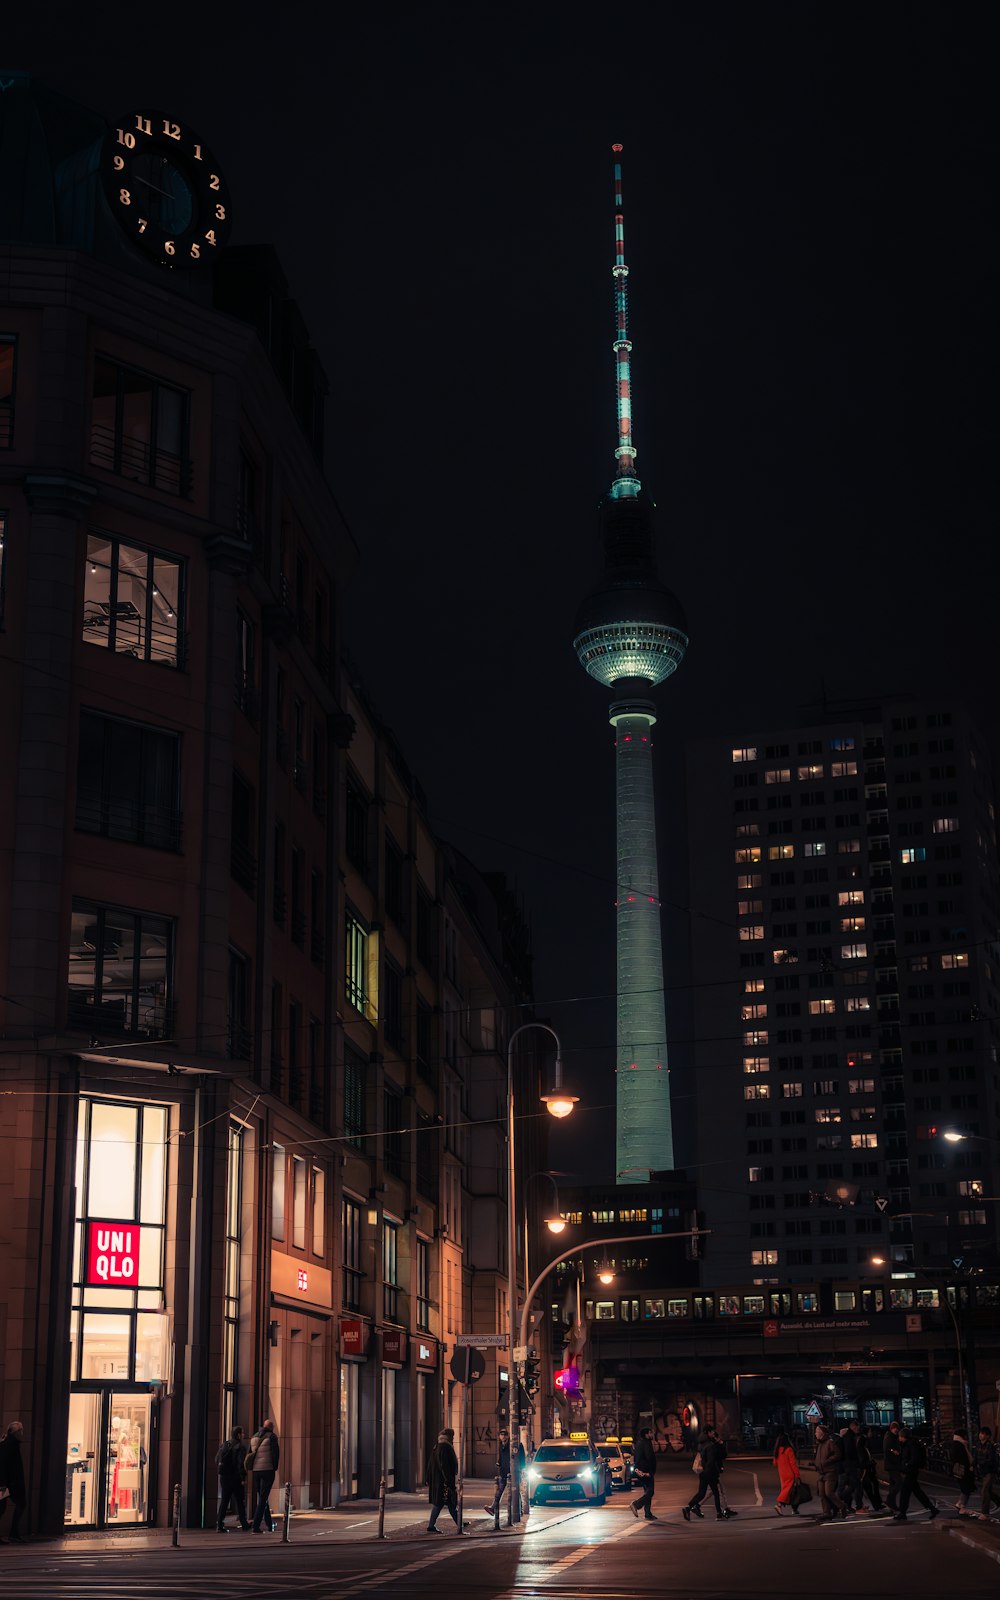
[[[173,922],[149,912],[74,901],[69,931],[69,1026],[91,1037],[165,1038],[173,1002]]]

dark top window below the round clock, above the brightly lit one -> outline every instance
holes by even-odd
[[[94,362],[91,466],[168,494],[190,494],[189,400],[187,390],[99,355]]]

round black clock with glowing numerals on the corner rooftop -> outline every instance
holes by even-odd
[[[173,117],[136,110],[109,128],[101,178],[122,229],[166,267],[198,267],[229,237],[229,189],[219,163]]]

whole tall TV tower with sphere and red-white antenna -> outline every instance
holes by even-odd
[[[614,691],[618,794],[618,1182],[645,1182],[674,1166],[667,1026],[662,989],[650,691],[683,661],[688,634],[680,602],[656,576],[653,502],[635,475],[629,269],[614,152],[614,365],[618,466],[600,504],[605,568],[576,618],[573,648],[582,667]]]

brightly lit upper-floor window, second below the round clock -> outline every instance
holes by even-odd
[[[182,666],[182,563],[174,557],[102,533],[88,534],[83,643],[138,661]]]

